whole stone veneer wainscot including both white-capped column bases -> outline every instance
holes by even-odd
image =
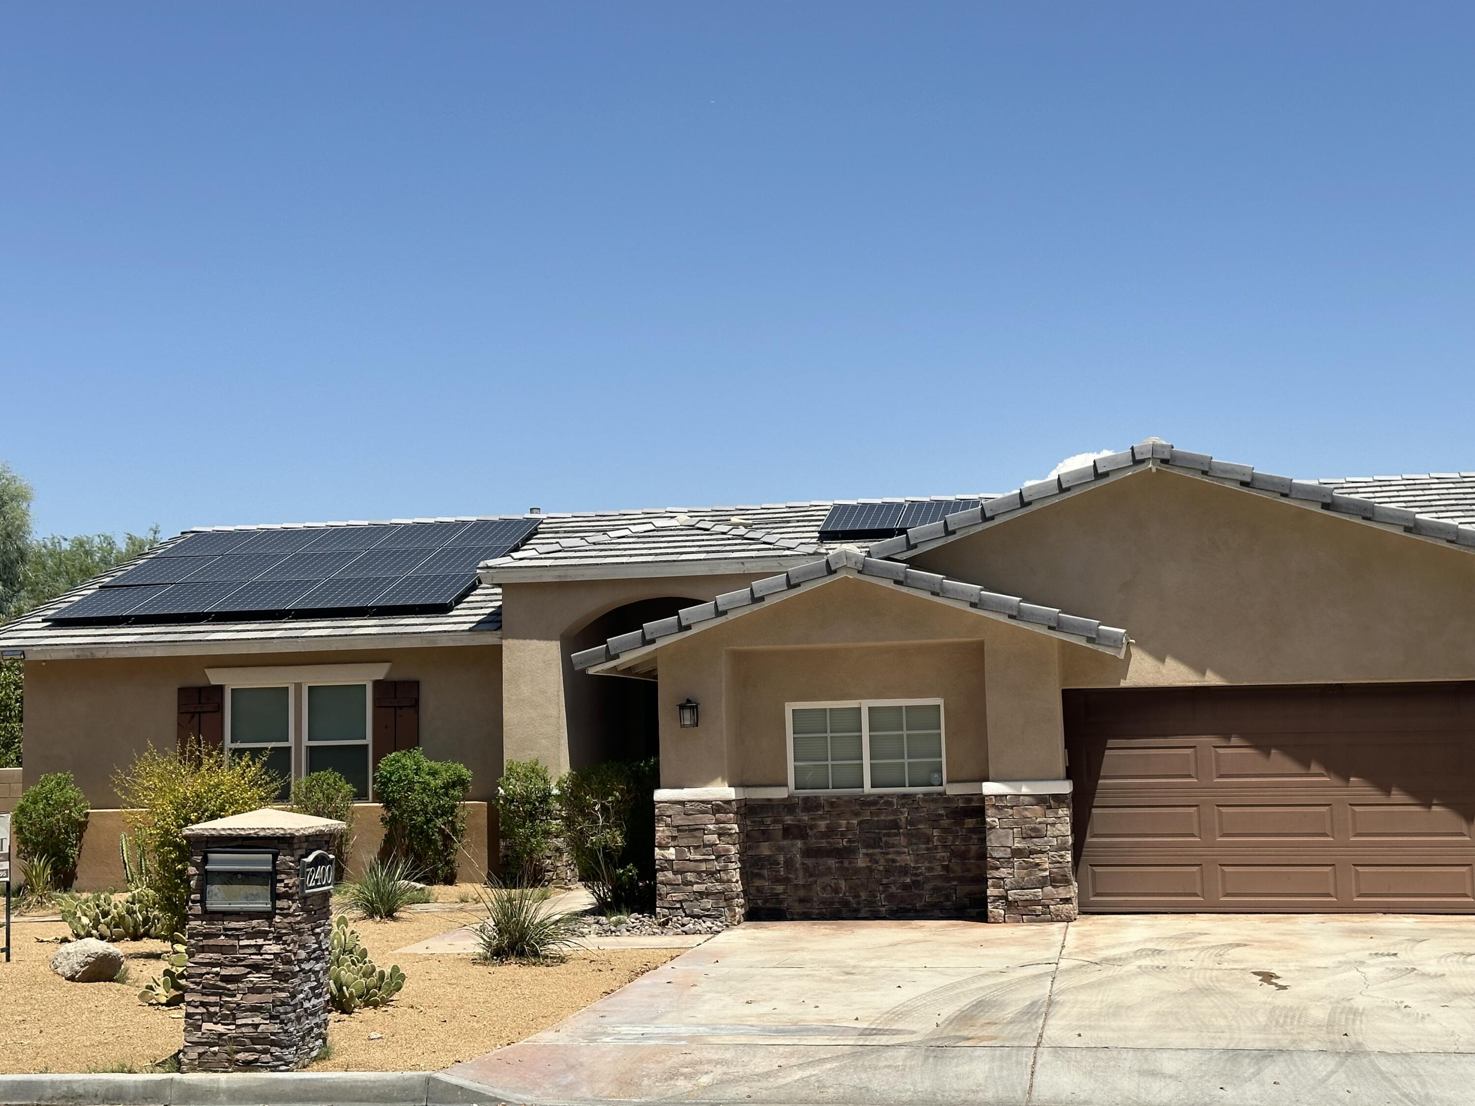
[[[972,786],[656,792],[656,916],[1072,920],[1069,785]]]

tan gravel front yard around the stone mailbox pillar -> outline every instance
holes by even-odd
[[[454,904],[456,889],[438,891]],[[468,904],[354,928],[388,966],[392,950],[478,917]],[[181,1009],[139,1001],[139,990],[159,973],[164,942],[119,942],[127,984],[68,984],[50,969],[58,944],[37,939],[65,935],[65,925],[18,920],[12,932],[13,961],[0,963],[0,1072],[149,1071],[180,1047]],[[404,990],[386,1007],[332,1015],[329,1054],[313,1071],[444,1068],[546,1029],[678,951],[574,951],[547,966],[478,964],[466,954],[401,957]]]

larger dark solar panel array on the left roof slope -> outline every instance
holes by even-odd
[[[540,519],[372,522],[190,534],[52,622],[327,616],[448,609],[476,566],[532,537]]]

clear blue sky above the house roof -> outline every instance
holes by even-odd
[[[1475,469],[1469,4],[12,4],[43,532]]]

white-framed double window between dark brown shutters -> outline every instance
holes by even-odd
[[[301,702],[301,739],[298,703]],[[286,780],[332,768],[354,786],[372,789],[373,696],[369,684],[289,683],[226,686],[226,757],[249,752]]]

